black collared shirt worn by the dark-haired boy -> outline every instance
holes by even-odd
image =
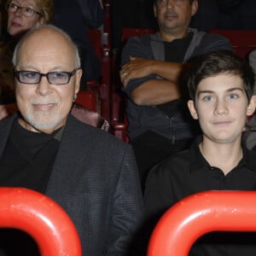
[[[226,176],[210,166],[198,144],[155,166],[148,174],[144,201],[151,229],[169,207],[207,190],[256,190],[256,153],[243,147],[243,159]],[[256,255],[256,233],[212,232],[202,236],[189,256]]]

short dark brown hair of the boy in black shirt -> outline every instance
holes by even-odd
[[[195,101],[195,91],[202,79],[219,73],[230,73],[241,77],[248,101],[253,95],[254,73],[248,62],[232,51],[213,51],[198,56],[189,67],[187,84],[190,98]]]

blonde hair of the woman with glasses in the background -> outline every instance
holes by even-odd
[[[12,0],[7,0],[6,4],[9,4]],[[53,0],[34,0],[36,3],[36,10],[44,18],[44,24],[49,24],[54,19],[54,2]]]

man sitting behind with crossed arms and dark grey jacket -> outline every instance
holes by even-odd
[[[122,53],[128,131],[142,183],[151,166],[188,148],[197,133],[177,82],[183,63],[212,50],[232,50],[226,38],[189,28],[197,7],[197,0],[155,0],[159,32],[131,38]]]

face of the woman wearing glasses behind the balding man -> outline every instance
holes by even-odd
[[[11,36],[20,36],[33,27],[42,26],[45,23],[34,0],[12,0],[7,3],[6,9],[7,31]]]

